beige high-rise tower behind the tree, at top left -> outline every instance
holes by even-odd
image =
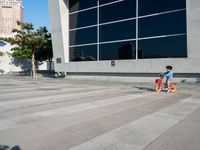
[[[22,0],[0,0],[0,36],[12,35],[19,28],[17,21],[23,22]]]

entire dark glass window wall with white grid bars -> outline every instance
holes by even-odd
[[[187,57],[186,0],[70,0],[70,61]]]

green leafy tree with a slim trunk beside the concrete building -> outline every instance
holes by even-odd
[[[13,29],[14,37],[0,40],[16,45],[12,56],[20,59],[31,59],[31,75],[36,77],[36,60],[52,59],[51,34],[46,27],[34,30],[33,24],[17,22],[20,29]],[[46,53],[47,52],[47,53]]]

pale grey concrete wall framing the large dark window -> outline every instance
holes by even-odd
[[[188,58],[120,60],[99,62],[69,62],[68,5],[63,0],[49,0],[55,58],[65,59],[55,64],[56,71],[63,72],[117,72],[157,73],[166,65],[174,66],[176,73],[200,73],[200,0],[187,1]]]

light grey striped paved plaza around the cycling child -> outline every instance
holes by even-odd
[[[200,84],[152,87],[0,76],[0,150],[199,150]]]

